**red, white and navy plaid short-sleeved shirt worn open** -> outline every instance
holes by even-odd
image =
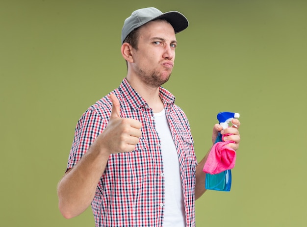
[[[161,142],[152,109],[126,78],[113,92],[122,118],[142,123],[142,137],[132,152],[109,156],[92,202],[96,227],[163,227],[164,177]],[[174,104],[175,97],[160,87],[159,95],[178,152],[186,227],[195,226],[197,160],[188,120]],[[77,123],[68,169],[89,149],[106,127],[112,110],[108,96],[90,106]]]

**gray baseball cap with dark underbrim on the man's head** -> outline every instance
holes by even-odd
[[[128,34],[135,28],[145,25],[155,19],[164,19],[168,21],[174,27],[175,33],[184,30],[189,25],[186,17],[178,11],[162,13],[154,7],[138,9],[133,11],[131,16],[125,20],[122,29],[122,43],[124,43]]]

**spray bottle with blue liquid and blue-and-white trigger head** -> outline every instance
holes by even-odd
[[[240,114],[232,112],[220,112],[217,115],[217,120],[223,129],[229,126],[233,118],[239,118]],[[218,133],[215,143],[222,141],[221,132]],[[206,174],[205,189],[229,192],[231,187],[231,171],[225,170],[219,174]]]

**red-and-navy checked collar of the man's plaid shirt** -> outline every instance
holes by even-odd
[[[138,108],[148,106],[147,102],[131,87],[128,83],[127,78],[124,78],[121,85],[119,86],[119,90],[121,91],[123,98],[128,101],[131,108]],[[159,96],[164,103],[164,106],[167,104],[175,103],[175,96],[166,90],[163,87],[159,87]]]

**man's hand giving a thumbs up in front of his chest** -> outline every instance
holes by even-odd
[[[96,140],[108,153],[133,151],[142,136],[142,123],[131,118],[121,118],[120,102],[110,94],[112,112],[108,125]]]

